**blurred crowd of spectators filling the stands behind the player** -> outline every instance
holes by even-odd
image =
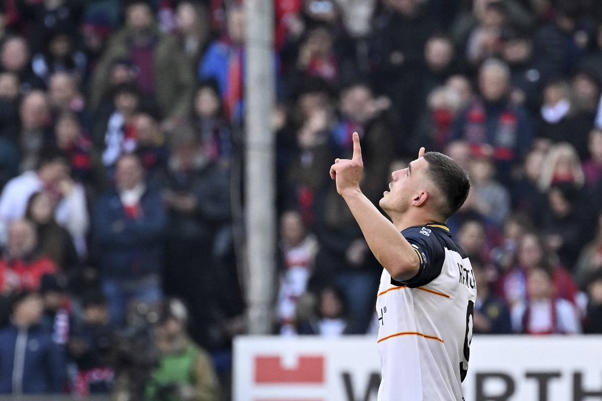
[[[470,173],[447,224],[475,332],[602,333],[601,2],[275,0],[275,22],[275,333],[377,327],[382,268],[327,173],[353,132],[375,204],[421,146]],[[244,44],[237,0],[0,2],[1,394],[228,398]]]

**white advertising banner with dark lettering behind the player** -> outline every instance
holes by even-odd
[[[235,340],[234,401],[376,401],[379,383],[373,337]],[[602,336],[474,336],[464,393],[466,401],[602,401]]]

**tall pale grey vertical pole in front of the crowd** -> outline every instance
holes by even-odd
[[[273,0],[244,0],[246,17],[245,222],[250,334],[272,328],[276,265]]]

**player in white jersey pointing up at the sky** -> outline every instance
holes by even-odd
[[[424,153],[395,171],[380,200],[362,194],[362,154],[336,159],[330,177],[385,268],[376,302],[382,381],[379,401],[461,401],[468,369],[476,284],[445,221],[468,196],[467,173],[441,153]]]

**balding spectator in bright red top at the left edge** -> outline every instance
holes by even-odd
[[[42,277],[57,271],[57,265],[40,249],[34,224],[23,219],[11,222],[6,252],[0,259],[2,292],[39,290]]]

